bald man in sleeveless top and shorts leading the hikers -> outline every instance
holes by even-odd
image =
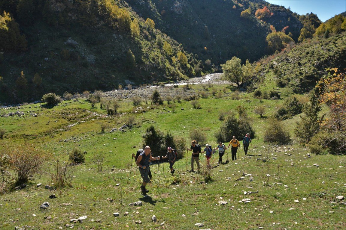
[[[140,176],[143,178],[143,183],[142,186],[140,186],[140,189],[142,190],[143,195],[146,195],[149,190],[146,190],[145,186],[149,182],[149,160],[154,161],[154,160],[160,160],[160,157],[152,157],[151,155],[151,150],[149,146],[146,146],[144,148],[144,151],[139,154],[136,164],[138,166]]]

